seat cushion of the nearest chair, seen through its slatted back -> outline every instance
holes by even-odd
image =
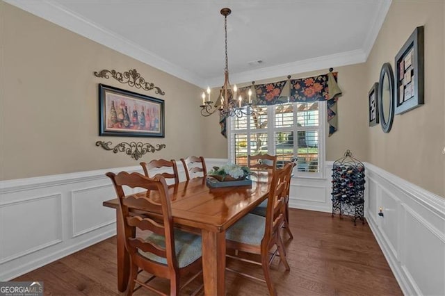
[[[154,244],[165,248],[165,237],[159,236],[159,234],[152,233],[145,239],[145,241],[153,242]],[[200,258],[202,254],[201,237],[193,233],[175,229],[175,252],[179,268],[184,268],[193,263],[197,258]],[[139,254],[149,260],[167,265],[167,258],[157,256],[150,252],[143,252],[141,250],[139,250]]]

